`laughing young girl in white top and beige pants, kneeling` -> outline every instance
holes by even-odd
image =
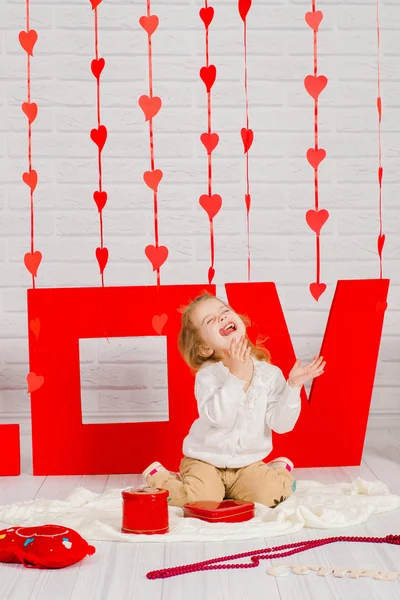
[[[272,450],[271,430],[291,431],[300,414],[300,390],[322,375],[325,362],[296,361],[286,381],[269,353],[246,336],[246,318],[205,293],[183,311],[179,350],[196,371],[199,417],[183,442],[180,477],[160,463],[143,475],[169,491],[169,503],[249,500],[274,508],[295,490],[293,463],[262,461]]]

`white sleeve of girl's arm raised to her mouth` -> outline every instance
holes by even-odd
[[[223,382],[212,368],[200,369],[195,382],[199,416],[214,427],[233,427],[239,407],[246,398],[245,384],[231,373]]]

